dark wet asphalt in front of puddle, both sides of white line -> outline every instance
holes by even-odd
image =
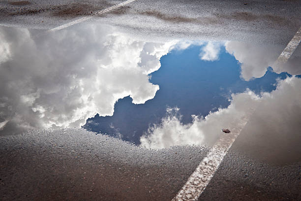
[[[85,130],[0,137],[2,201],[168,201],[209,147],[146,150]],[[301,162],[267,164],[230,150],[200,201],[298,201]]]

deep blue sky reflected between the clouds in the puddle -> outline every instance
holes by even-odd
[[[205,117],[210,111],[227,107],[232,93],[247,88],[256,94],[271,92],[277,78],[287,77],[287,73],[277,74],[269,68],[263,77],[245,81],[241,65],[224,46],[215,61],[202,60],[199,54],[204,47],[206,44],[194,45],[163,56],[160,69],[151,73],[151,83],[160,86],[153,99],[133,104],[129,97],[123,98],[115,104],[113,116],[96,115],[88,119],[84,128],[139,143],[149,125],[160,123],[167,107],[180,108],[181,122],[187,124],[192,121],[191,115]]]

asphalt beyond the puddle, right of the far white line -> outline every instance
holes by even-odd
[[[149,37],[243,40],[284,46],[301,26],[301,2],[143,0],[100,21]],[[129,27],[131,29],[129,29]],[[162,36],[163,35],[163,36]]]

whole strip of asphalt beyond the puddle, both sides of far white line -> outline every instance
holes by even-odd
[[[13,2],[0,2],[0,24],[51,29],[121,1]],[[242,40],[284,48],[301,26],[300,10],[297,0],[136,0],[91,22],[150,40]]]

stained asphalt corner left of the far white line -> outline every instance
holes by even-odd
[[[31,29],[50,29],[105,9],[121,0],[4,0],[0,24]]]

